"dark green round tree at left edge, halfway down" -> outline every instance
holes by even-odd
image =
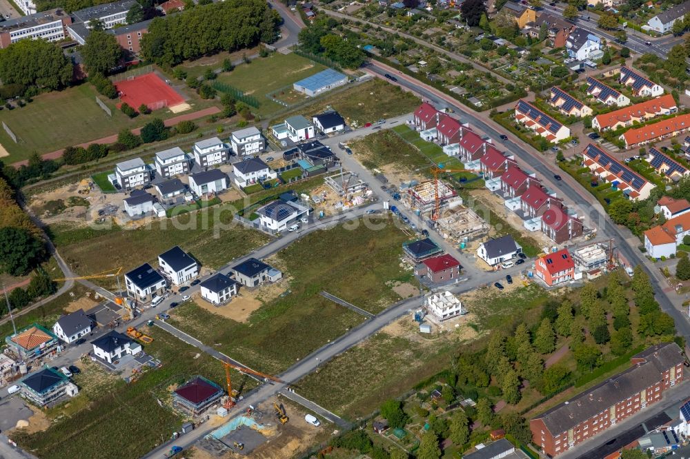
[[[43,241],[23,228],[0,228],[0,272],[22,276],[46,255]]]

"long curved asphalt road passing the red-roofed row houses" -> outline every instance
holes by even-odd
[[[368,70],[378,75],[391,72],[390,68],[386,68],[375,61],[368,65]],[[512,136],[509,136],[507,141],[500,140],[502,132],[498,131],[497,125],[488,117],[469,111],[463,105],[451,99],[450,96],[437,92],[420,81],[413,80],[411,76],[401,74],[400,72],[395,72],[395,74],[398,84],[422,95],[424,99],[431,101],[436,108],[451,107],[455,109],[455,112],[460,115],[460,121],[470,123],[473,128],[488,134],[492,139],[497,139],[495,141],[504,145],[509,152],[515,154],[522,161],[523,166],[526,165],[529,170],[536,172],[542,183],[552,190],[556,190],[558,196],[564,198],[564,201],[569,203],[571,208],[578,212],[578,216],[584,216],[585,225],[598,228],[598,237],[604,235],[606,238],[614,238],[618,251],[627,259],[630,265],[642,265],[645,271],[647,271],[647,274],[652,279],[656,300],[664,312],[670,314],[673,320],[676,321],[678,333],[685,337],[690,336],[690,321],[687,314],[676,309],[669,297],[663,292],[660,285],[663,285],[662,283],[666,283],[666,281],[662,278],[658,269],[653,269],[653,266],[637,249],[637,245],[640,244],[639,239],[633,236],[629,230],[615,225],[604,211],[604,208],[593,199],[589,192],[584,190],[571,176],[562,173],[560,168],[555,165],[553,159],[551,159],[552,156],[544,156],[544,154],[536,151],[528,152],[523,146],[524,143],[519,140],[517,142],[513,141],[511,139]],[[584,145],[580,145],[580,148],[584,148]],[[562,181],[555,181],[553,179],[554,174],[562,174]]]

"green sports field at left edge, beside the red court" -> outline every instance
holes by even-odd
[[[110,101],[99,95],[110,107],[111,118],[97,105],[96,95],[92,85],[84,83],[63,91],[40,94],[23,108],[1,110],[0,121],[7,123],[20,140],[19,143],[14,143],[4,130],[0,130],[0,143],[10,153],[10,156],[5,156],[2,160],[5,163],[22,161],[33,152],[53,152],[70,145],[117,134],[122,128],[138,128],[147,123],[152,116],[163,119],[175,116],[164,109],[157,110],[153,115],[129,119],[115,108],[117,99]],[[193,110],[213,105],[209,101],[202,101],[196,95],[188,103],[193,105]]]

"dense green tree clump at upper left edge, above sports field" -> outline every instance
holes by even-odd
[[[0,50],[0,80],[5,85],[64,88],[72,81],[72,61],[54,43],[20,40]]]

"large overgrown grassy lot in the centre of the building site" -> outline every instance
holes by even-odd
[[[400,267],[404,240],[393,225],[381,230],[339,226],[309,234],[271,261],[290,278],[289,292],[259,307],[246,323],[192,303],[177,307],[170,323],[246,365],[277,374],[364,320],[319,292],[373,313],[400,298],[386,282],[410,276]]]

